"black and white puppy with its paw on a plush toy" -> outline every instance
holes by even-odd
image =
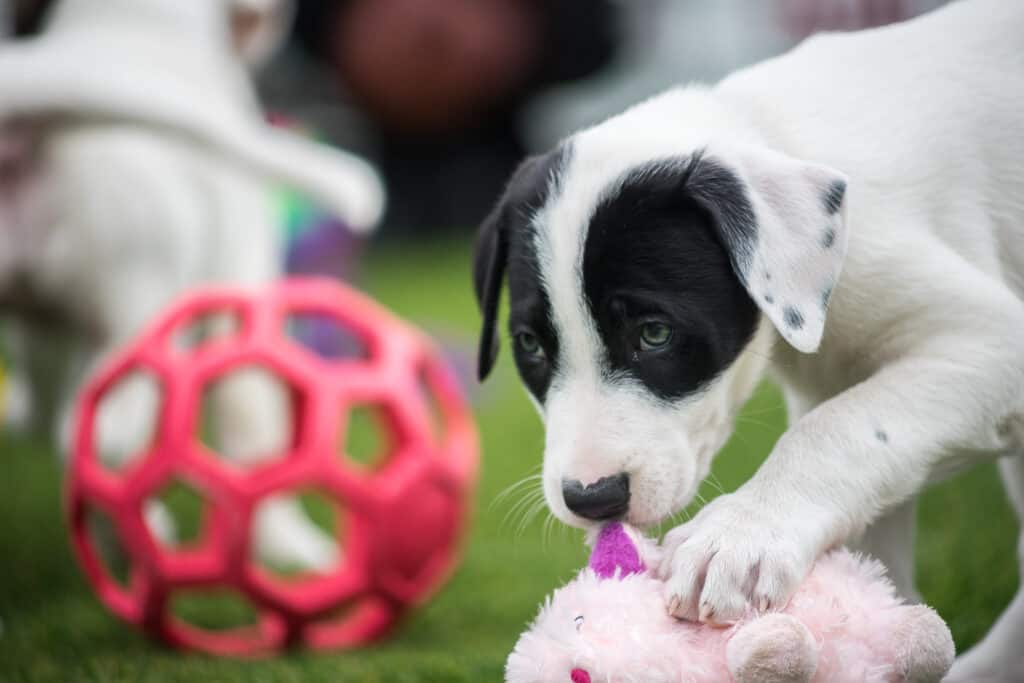
[[[841,543],[912,595],[913,497],[983,458],[1016,456],[1024,513],[1022,111],[1024,5],[973,0],[814,38],[527,160],[478,239],[479,370],[507,273],[553,513],[678,511],[768,371],[791,426],[669,533],[673,613],[782,605]],[[955,675],[1024,676],[1015,642],[1020,596]]]

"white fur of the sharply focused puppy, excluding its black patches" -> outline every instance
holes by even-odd
[[[560,191],[536,221],[564,348],[544,407],[554,513],[586,523],[565,508],[562,478],[626,471],[628,520],[653,523],[692,498],[766,371],[791,409],[788,431],[751,481],[669,535],[666,598],[677,614],[730,622],[749,604],[782,604],[814,558],[858,538],[898,565],[909,592],[912,497],[931,478],[1024,449],[1022,36],[1024,4],[957,2],[895,27],[813,38],[715,88],[667,92],[572,137]],[[600,377],[582,246],[624,173],[700,150],[753,196],[761,233],[743,280],[765,321],[708,390],[666,404]],[[807,243],[826,227],[815,222],[820,191],[843,177],[831,224],[839,256],[815,256]],[[800,331],[787,330],[764,299],[763,268],[785,280],[791,301],[837,281],[827,321],[805,314]],[[1005,475],[1024,489],[1024,468]],[[973,667],[963,680],[1024,678],[1011,645],[1024,642],[1024,598],[1011,611],[998,639],[958,665]]]

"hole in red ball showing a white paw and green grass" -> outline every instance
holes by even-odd
[[[286,580],[326,575],[344,557],[345,513],[341,505],[316,489],[301,489],[263,499],[253,514],[252,560]]]

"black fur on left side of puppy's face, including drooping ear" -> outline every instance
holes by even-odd
[[[544,350],[542,362],[537,356],[524,357],[516,344],[516,365],[526,386],[542,401],[558,348],[551,327],[551,304],[541,287],[530,221],[549,194],[557,191],[568,155],[568,146],[562,145],[547,155],[531,157],[519,166],[480,226],[473,263],[474,288],[483,313],[479,377],[482,380],[489,374],[498,356],[498,307],[507,270],[512,333],[528,332]]]

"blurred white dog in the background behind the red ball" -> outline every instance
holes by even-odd
[[[4,312],[71,323],[88,370],[186,288],[278,278],[276,186],[310,196],[353,229],[376,225],[384,196],[369,165],[263,121],[247,60],[272,51],[288,7],[59,0],[41,36],[0,44]],[[26,353],[38,345],[22,341]],[[80,379],[65,400],[62,439]],[[285,400],[256,375],[225,382],[215,396],[221,450],[255,458],[280,447]],[[142,382],[108,401],[105,457],[138,452],[154,403]],[[295,504],[263,510],[257,545],[270,561],[333,561],[334,544]],[[173,532],[159,508],[148,512]]]

